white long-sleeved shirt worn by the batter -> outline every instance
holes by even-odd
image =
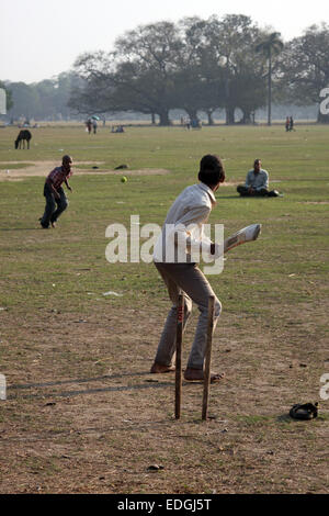
[[[214,259],[220,255],[215,244],[215,255],[211,255],[212,240],[204,235],[203,225],[207,222],[216,199],[213,190],[204,184],[185,188],[171,205],[162,231],[155,245],[154,260],[166,263],[193,261],[193,251],[206,251]]]

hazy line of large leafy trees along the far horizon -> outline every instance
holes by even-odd
[[[222,109],[232,124],[237,109],[241,123],[252,123],[266,105],[271,124],[272,102],[320,104],[320,91],[329,86],[328,55],[326,23],[284,43],[279,32],[246,15],[185,18],[128,31],[111,52],[80,55],[58,85],[43,81],[35,88],[45,109],[58,112],[60,105],[64,115],[139,112],[169,125],[170,111],[178,109],[191,120],[202,111],[213,124]],[[12,92],[13,86],[7,85]],[[319,111],[318,121],[329,122],[329,115]]]

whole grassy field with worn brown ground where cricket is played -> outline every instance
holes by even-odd
[[[296,128],[41,127],[30,150],[0,128],[0,493],[328,493],[329,127]],[[225,236],[263,226],[208,277],[223,303],[213,369],[226,373],[212,418],[201,422],[202,384],[184,383],[177,422],[174,375],[149,374],[166,289],[152,265],[109,263],[105,228],[132,214],[162,224],[207,153],[227,173],[209,222]],[[67,212],[43,231],[44,177],[64,154],[82,164]],[[257,157],[283,198],[238,198]],[[126,183],[109,173],[121,164]],[[290,418],[308,401],[317,419]]]

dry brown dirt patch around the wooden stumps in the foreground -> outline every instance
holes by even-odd
[[[15,328],[15,337],[8,329],[3,344],[9,352],[15,341],[10,349],[20,354],[20,367],[8,370],[0,492],[325,493],[328,411],[321,406],[314,422],[287,415],[293,403],[314,400],[327,356],[318,333],[309,348],[318,332],[309,324],[326,309],[308,312],[309,322],[299,310],[285,312],[280,326],[261,333],[247,314],[243,327],[234,315],[223,317],[213,366],[226,380],[212,385],[213,418],[201,424],[202,384],[183,383],[175,422],[174,374],[149,373],[159,307],[42,309],[23,323],[4,311],[3,327]],[[195,324],[196,314],[184,336],[184,363]]]

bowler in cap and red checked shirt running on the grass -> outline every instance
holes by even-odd
[[[56,227],[57,218],[68,206],[68,200],[61,184],[65,182],[67,189],[70,192],[72,191],[68,183],[68,179],[72,176],[71,165],[71,157],[64,156],[61,167],[54,168],[46,179],[44,187],[46,206],[44,215],[39,218],[39,223],[44,229],[47,229],[49,224],[52,224],[53,227]]]

